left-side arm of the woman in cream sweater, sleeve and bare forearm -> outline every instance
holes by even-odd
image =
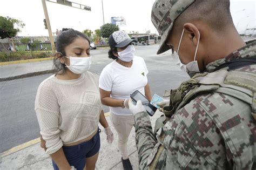
[[[44,102],[39,102],[44,101]],[[59,134],[59,105],[55,93],[49,90],[46,85],[40,85],[35,100],[35,111],[42,135],[42,146],[53,161],[56,162],[59,169],[69,169],[70,165],[66,160],[62,146],[63,141]],[[45,146],[44,146],[45,145]]]

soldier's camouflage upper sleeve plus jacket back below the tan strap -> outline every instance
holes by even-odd
[[[167,123],[175,121],[177,127],[166,169],[251,169],[255,125],[250,113],[249,105],[221,93],[191,100]],[[166,125],[163,131],[172,130]]]

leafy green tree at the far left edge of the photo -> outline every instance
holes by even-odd
[[[21,32],[21,28],[23,28],[24,26],[25,24],[22,21],[19,21],[18,19],[0,16],[1,39],[8,38],[9,43],[12,44],[12,47],[14,47],[15,50],[15,45],[12,38],[14,38],[18,32]]]

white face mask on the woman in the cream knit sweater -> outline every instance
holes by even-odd
[[[66,65],[70,71],[75,74],[85,73],[90,69],[92,59],[91,57],[66,57],[69,58],[70,65]]]

